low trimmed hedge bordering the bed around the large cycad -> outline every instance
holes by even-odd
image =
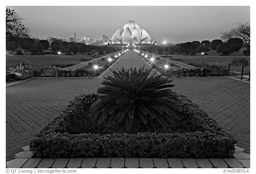
[[[30,149],[38,158],[141,157],[230,158],[236,140],[188,98],[178,96],[182,114],[168,132],[108,134],[92,124],[89,108],[98,95],[80,95],[41,128]]]

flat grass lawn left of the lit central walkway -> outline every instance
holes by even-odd
[[[27,60],[31,62],[33,68],[38,67],[47,67],[52,64],[79,64],[82,62],[80,59],[95,59],[95,57],[91,57],[91,55],[83,55],[77,54],[72,56],[66,55],[52,55],[52,54],[45,54],[45,55],[6,55],[6,71],[10,67],[14,67],[20,60]]]

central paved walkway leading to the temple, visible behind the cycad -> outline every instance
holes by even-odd
[[[136,54],[133,50],[128,50],[120,59],[118,59],[115,64],[111,67],[111,70],[116,70],[117,68],[124,67],[125,69],[128,68],[141,68],[145,65],[145,68],[150,68],[148,64],[145,63],[145,61],[140,58],[138,54]],[[110,76],[113,75],[113,73],[108,70],[106,73],[101,74],[101,76]]]

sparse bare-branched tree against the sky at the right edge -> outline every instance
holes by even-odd
[[[221,33],[220,38],[224,41],[227,41],[231,38],[240,38],[243,40],[244,45],[247,46],[247,49],[250,49],[251,44],[251,27],[250,22],[247,23],[237,23],[237,27],[233,28],[230,31],[226,31],[224,33]]]

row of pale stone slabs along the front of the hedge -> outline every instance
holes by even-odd
[[[24,147],[25,150],[28,146]],[[158,158],[73,158],[36,159],[20,152],[16,159],[6,162],[7,168],[250,168],[250,155],[238,152],[234,159],[158,159]],[[244,155],[246,154],[246,156]]]

